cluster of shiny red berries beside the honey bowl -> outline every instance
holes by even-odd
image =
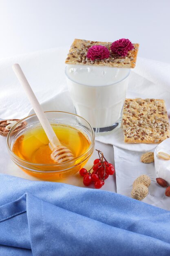
[[[79,170],[79,174],[83,176],[83,184],[85,186],[94,182],[95,188],[100,189],[104,185],[104,180],[106,180],[109,175],[113,175],[115,173],[115,168],[113,164],[110,164],[106,160],[100,150],[97,150],[97,152],[99,158],[94,160],[93,167],[89,171],[82,168]],[[92,173],[91,170],[93,170]]]

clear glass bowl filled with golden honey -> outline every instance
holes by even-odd
[[[41,180],[57,181],[74,175],[91,157],[95,146],[95,133],[91,124],[78,115],[45,112],[61,144],[71,150],[74,159],[57,164],[51,159],[49,140],[38,117],[34,114],[20,120],[7,136],[11,159],[24,172]],[[25,122],[25,126],[20,126]],[[21,127],[15,130],[16,127]]]

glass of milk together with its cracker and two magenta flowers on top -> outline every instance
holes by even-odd
[[[130,68],[139,44],[122,38],[113,43],[75,39],[65,63],[65,74],[75,112],[95,133],[121,126]]]

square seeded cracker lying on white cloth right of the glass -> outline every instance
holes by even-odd
[[[123,109],[124,141],[158,144],[170,137],[170,125],[162,99],[126,99]]]

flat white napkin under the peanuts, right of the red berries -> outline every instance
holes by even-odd
[[[161,144],[160,144],[161,145]],[[124,150],[114,146],[117,193],[131,197],[132,184],[140,175],[146,174],[151,179],[149,193],[142,200],[148,204],[170,211],[170,198],[165,195],[166,188],[156,182],[154,163],[141,163],[141,152]]]

